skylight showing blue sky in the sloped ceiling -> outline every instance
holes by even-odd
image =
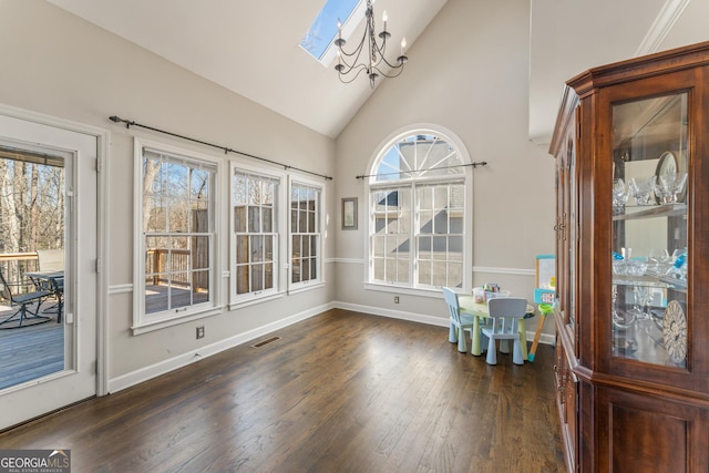
[[[300,40],[300,47],[318,61],[325,62],[328,48],[337,35],[338,20],[347,24],[360,3],[361,0],[328,0]]]

